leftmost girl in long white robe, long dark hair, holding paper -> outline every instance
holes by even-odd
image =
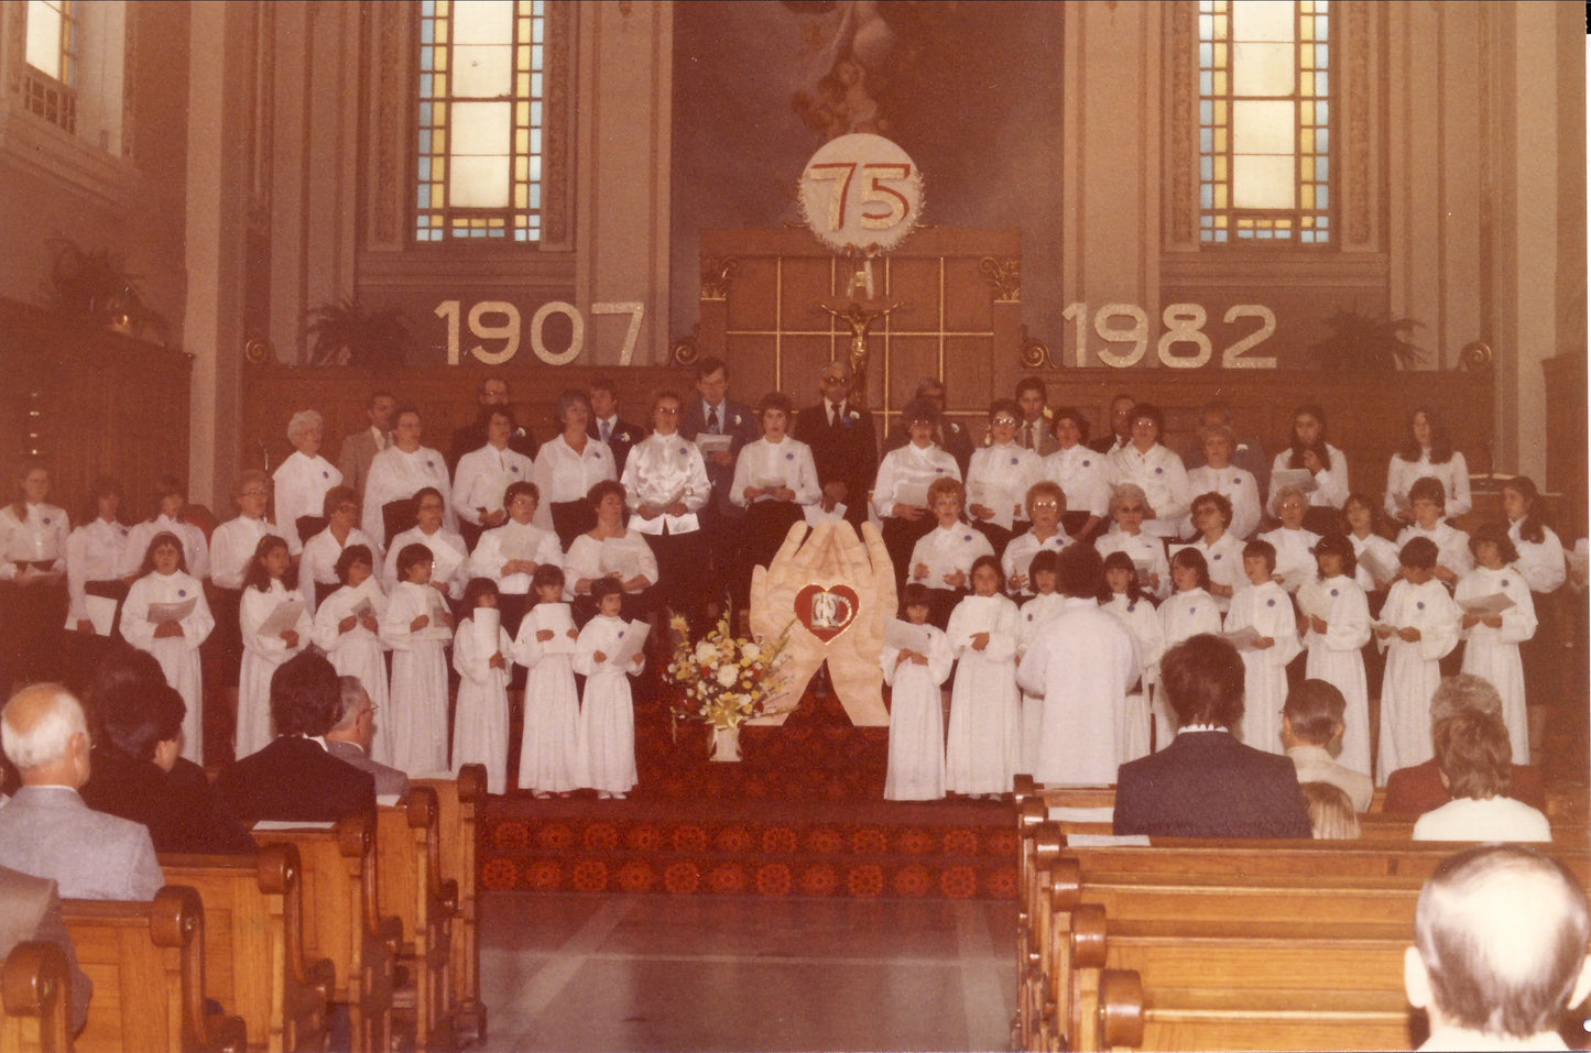
[[[183,757],[204,764],[204,676],[199,666],[199,644],[215,628],[215,617],[204,598],[204,585],[186,571],[183,541],[170,531],[150,539],[143,555],[143,576],[132,582],[121,604],[121,635],[138,651],[148,651],[161,663],[165,682],[177,689],[188,705],[183,716]],[[194,600],[194,608],[180,620],[154,622],[150,604]]]

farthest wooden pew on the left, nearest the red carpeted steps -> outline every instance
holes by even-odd
[[[461,1045],[487,1037],[487,1008],[480,1001],[480,907],[476,873],[477,822],[487,800],[487,770],[466,764],[453,779],[409,779],[436,791],[442,880],[458,888],[453,945],[447,954],[453,991],[453,1032]]]

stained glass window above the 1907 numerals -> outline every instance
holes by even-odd
[[[417,240],[541,240],[546,3],[420,0]]]

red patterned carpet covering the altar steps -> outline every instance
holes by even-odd
[[[745,729],[743,760],[706,759],[700,724],[636,703],[641,783],[628,800],[511,792],[485,810],[485,889],[673,896],[1010,899],[1009,802],[883,800],[888,729],[832,698]]]

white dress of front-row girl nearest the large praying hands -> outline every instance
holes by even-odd
[[[878,655],[889,684],[889,767],[885,800],[937,800],[945,795],[945,705],[939,687],[955,660],[950,641],[932,625],[926,665],[896,663],[897,647]]]

